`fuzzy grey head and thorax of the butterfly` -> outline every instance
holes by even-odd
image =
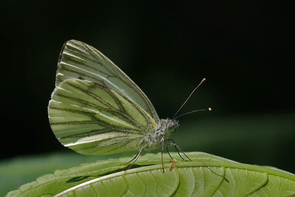
[[[175,133],[178,126],[178,121],[175,119],[161,119],[158,123],[157,130],[146,136],[143,139],[143,144],[145,144],[145,146],[149,146],[150,149],[156,148],[161,143],[163,138],[164,140],[167,140],[171,133]]]

